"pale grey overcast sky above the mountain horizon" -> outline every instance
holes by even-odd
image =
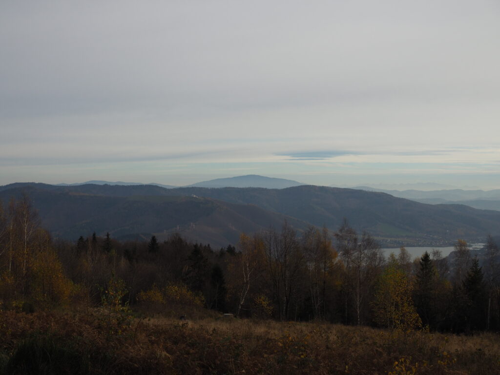
[[[500,188],[500,2],[0,2],[0,184]]]

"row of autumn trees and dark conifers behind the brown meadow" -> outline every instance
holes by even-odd
[[[495,241],[488,236],[482,267],[465,241],[455,250],[449,262],[438,250],[412,260],[404,247],[386,259],[371,235],[346,220],[334,233],[309,227],[300,235],[284,222],[220,249],[179,234],[53,240],[23,196],[0,205],[0,308],[89,309],[112,294],[121,305],[187,315],[210,308],[279,320],[498,330]]]

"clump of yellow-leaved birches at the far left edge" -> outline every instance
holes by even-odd
[[[72,291],[29,197],[12,198],[7,212],[0,209],[0,308],[51,308]]]

